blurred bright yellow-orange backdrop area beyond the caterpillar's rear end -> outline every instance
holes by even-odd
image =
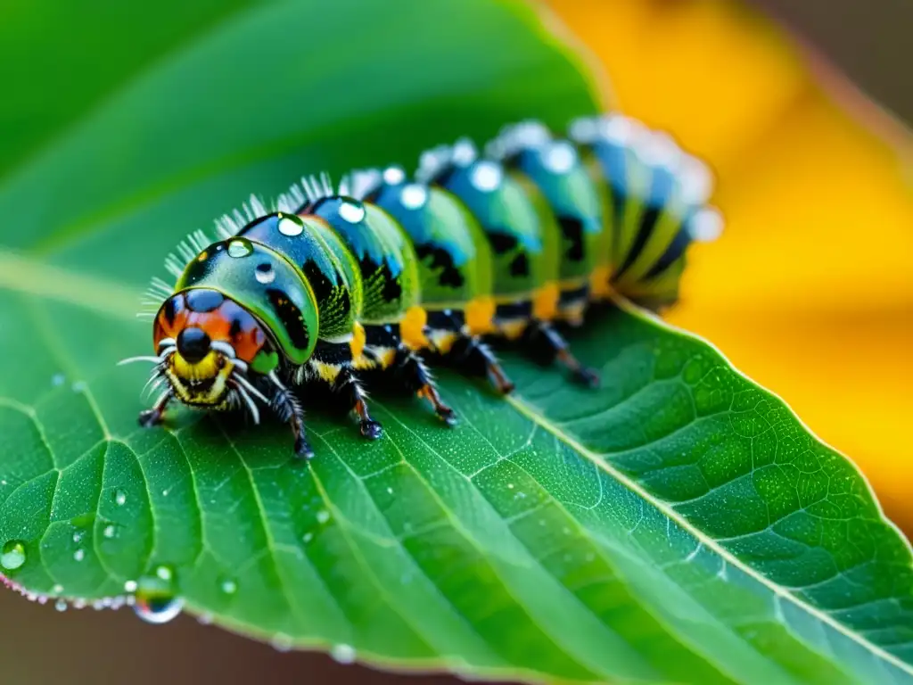
[[[547,4],[619,107],[717,174],[724,235],[692,250],[666,319],[781,395],[913,532],[913,135],[742,5]]]

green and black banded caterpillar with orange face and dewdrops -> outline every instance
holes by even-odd
[[[195,231],[166,258],[173,283],[152,279],[154,354],[121,362],[153,364],[161,394],[139,422],[163,422],[173,401],[254,423],[268,407],[310,458],[296,390],[326,384],[377,438],[362,376],[380,372],[453,425],[425,362],[507,394],[490,338],[597,385],[559,329],[613,293],[674,303],[688,245],[721,227],[710,184],[665,133],[609,114],[566,138],[522,121],[482,150],[461,139],[424,153],[412,178],[389,166],[337,187],[304,177],[269,208],[251,196],[216,220],[215,242]]]

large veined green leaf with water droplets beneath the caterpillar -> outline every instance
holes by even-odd
[[[910,550],[866,481],[624,304],[573,340],[602,389],[508,354],[509,400],[440,374],[455,429],[383,393],[377,443],[311,409],[310,463],[280,426],[136,427],[142,369],[114,364],[148,349],[136,293],[178,237],[301,173],[594,109],[520,5],[171,9],[148,59],[92,81],[93,107],[63,100],[0,181],[13,584],[95,600],[166,564],[221,626],[474,676],[913,682]]]

